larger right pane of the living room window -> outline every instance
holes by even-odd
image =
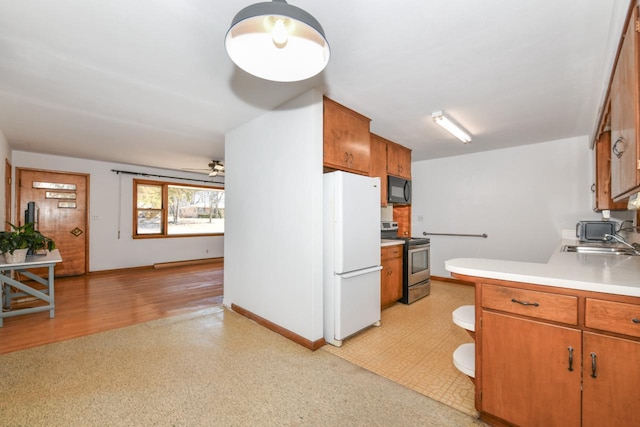
[[[168,234],[224,233],[224,190],[169,185]]]

